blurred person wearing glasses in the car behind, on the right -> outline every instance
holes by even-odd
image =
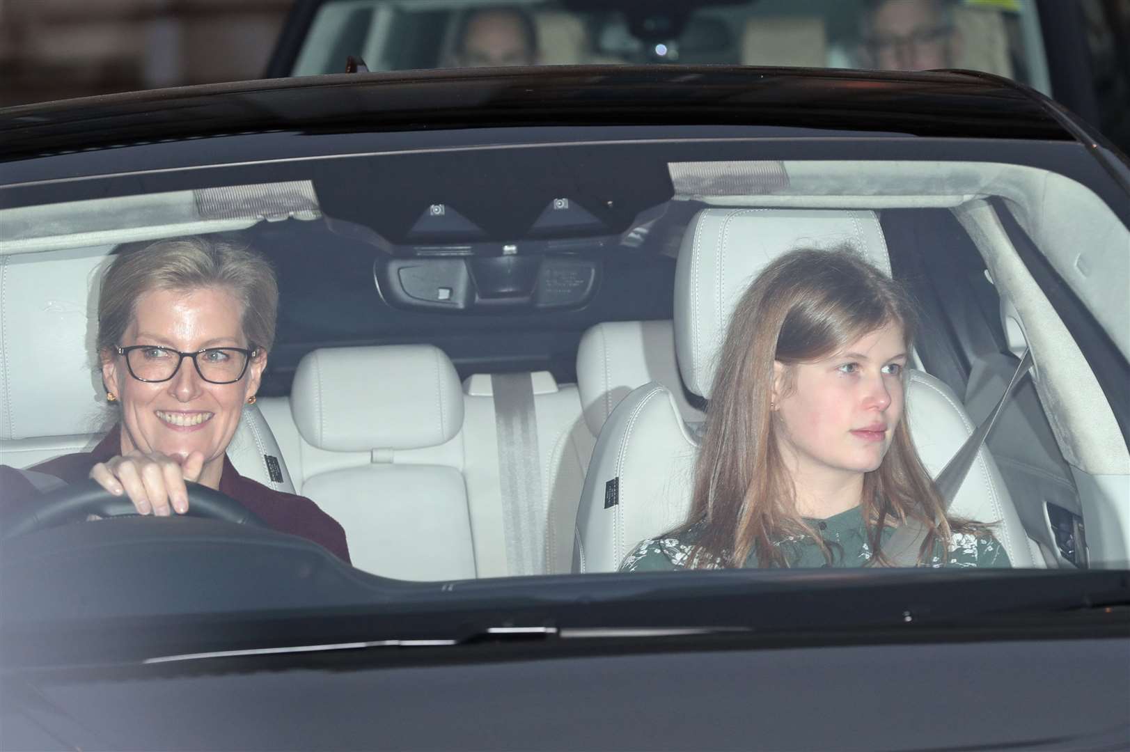
[[[953,68],[960,50],[949,0],[870,0],[860,21],[866,67]]]

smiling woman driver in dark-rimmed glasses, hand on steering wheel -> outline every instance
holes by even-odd
[[[185,481],[200,483],[349,561],[333,518],[243,477],[227,458],[243,406],[255,401],[277,309],[270,265],[233,243],[183,237],[119,253],[102,279],[97,335],[118,422],[92,451],[32,469],[68,483],[94,478],[140,515],[183,515]],[[35,503],[24,476],[0,470],[6,508]]]

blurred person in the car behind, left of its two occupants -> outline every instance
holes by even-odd
[[[472,10],[460,19],[455,40],[457,67],[532,66],[538,61],[538,29],[521,8]]]

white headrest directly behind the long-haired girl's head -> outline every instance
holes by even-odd
[[[687,389],[710,398],[730,314],[762,269],[799,248],[844,244],[890,274],[873,211],[703,209],[695,215],[675,271],[675,352]]]

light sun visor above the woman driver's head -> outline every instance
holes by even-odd
[[[310,181],[228,185],[191,191],[0,209],[0,254],[245,230],[260,222],[322,216]]]

